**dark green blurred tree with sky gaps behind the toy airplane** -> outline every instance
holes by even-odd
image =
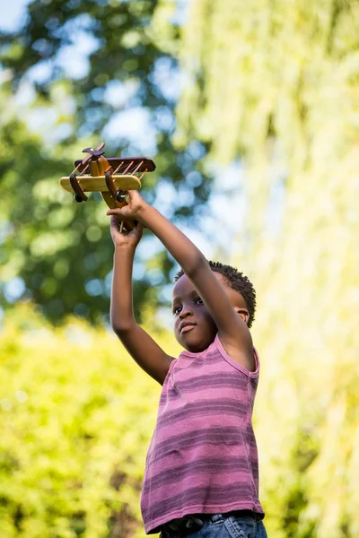
[[[177,152],[171,143],[179,93],[179,25],[170,22],[175,11],[175,4],[156,0],[35,0],[19,30],[0,33],[0,301],[5,308],[16,299],[31,299],[54,322],[69,313],[108,320],[113,247],[107,205],[100,195],[75,204],[58,184],[84,147],[103,138],[107,156],[128,156],[143,154],[144,146],[157,170],[145,176],[141,192],[155,204],[155,187],[171,186],[161,206],[172,218],[193,221],[195,206],[206,202],[204,170],[197,167],[196,185],[187,180],[205,152],[203,144]],[[118,126],[122,130],[113,134]],[[143,265],[153,265],[153,253],[161,248],[143,241],[138,249]],[[162,301],[153,283],[171,280],[173,260],[159,259],[156,278],[145,270],[136,278],[138,319],[146,302]]]

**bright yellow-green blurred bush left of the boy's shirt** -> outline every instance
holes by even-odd
[[[29,307],[0,334],[0,535],[144,535],[139,492],[160,386],[116,337]]]

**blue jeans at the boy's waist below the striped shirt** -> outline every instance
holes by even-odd
[[[171,529],[169,525],[165,525],[160,538],[267,538],[263,522],[257,521],[253,516],[213,514],[208,515],[204,523],[201,519],[198,521],[200,517],[201,515],[193,517],[192,528],[190,522],[188,528],[182,530]],[[203,525],[200,526],[201,524]]]

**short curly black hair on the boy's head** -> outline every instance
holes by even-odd
[[[250,319],[248,321],[248,326],[251,327],[254,321],[254,314],[256,312],[256,291],[253,287],[253,284],[250,282],[250,279],[245,276],[243,273],[240,273],[238,269],[232,267],[231,265],[223,265],[220,262],[212,262],[208,260],[208,264],[211,267],[212,271],[215,273],[223,274],[225,281],[232,288],[232,290],[238,291],[241,293],[248,312],[250,314]],[[174,277],[174,281],[177,282],[180,277],[184,274],[184,271],[180,271]]]

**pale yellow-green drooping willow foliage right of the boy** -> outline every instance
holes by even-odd
[[[258,292],[257,431],[276,538],[359,534],[358,25],[354,0],[193,0],[180,47],[177,142],[241,158],[233,263]]]

